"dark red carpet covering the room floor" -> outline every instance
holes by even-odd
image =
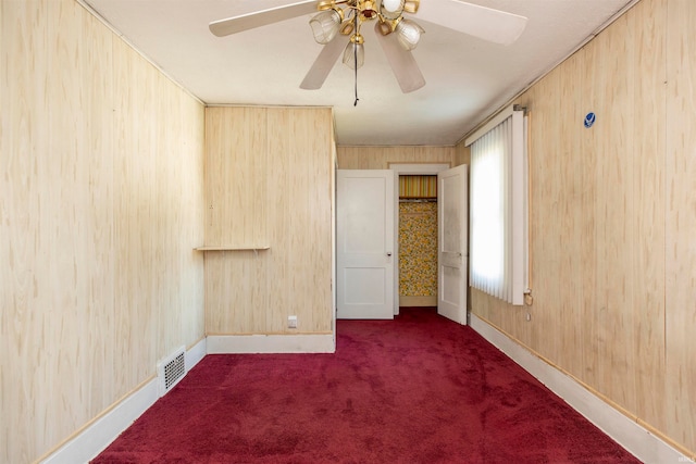
[[[95,463],[637,463],[431,309],[338,321],[335,354],[208,355]]]

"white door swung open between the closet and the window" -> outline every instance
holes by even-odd
[[[468,166],[437,174],[437,313],[467,324]]]

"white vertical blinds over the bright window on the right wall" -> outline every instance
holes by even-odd
[[[512,304],[526,288],[525,172],[523,115],[510,112],[471,143],[470,284]]]

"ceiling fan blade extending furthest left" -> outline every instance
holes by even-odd
[[[288,3],[283,7],[270,8],[253,13],[240,14],[226,20],[214,21],[208,26],[217,37],[241,33],[266,24],[278,23],[284,20],[311,14],[316,11],[316,0],[304,0]]]

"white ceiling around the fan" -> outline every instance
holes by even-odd
[[[426,33],[413,55],[426,85],[407,95],[372,27],[363,27],[365,64],[353,106],[355,75],[340,60],[322,89],[299,88],[322,47],[312,38],[311,15],[223,38],[208,29],[212,21],[291,1],[82,1],[207,104],[333,106],[341,146],[455,145],[634,2],[469,0],[526,16],[526,29],[504,47],[421,22]]]

